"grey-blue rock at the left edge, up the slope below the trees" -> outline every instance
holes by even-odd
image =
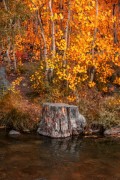
[[[6,79],[6,72],[4,67],[0,67],[0,96],[8,89],[9,82]]]

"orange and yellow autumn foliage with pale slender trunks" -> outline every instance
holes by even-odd
[[[120,86],[120,2],[2,1],[1,60],[15,71],[38,61],[33,89],[52,101],[79,101],[86,86]],[[2,53],[3,52],[3,53]]]

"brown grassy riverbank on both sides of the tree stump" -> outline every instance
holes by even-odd
[[[106,135],[119,134],[119,95],[103,97],[95,101],[90,98],[81,98],[78,104],[79,112],[87,120],[85,134],[104,134],[105,130]],[[0,99],[0,126],[20,132],[37,131],[42,103],[39,96],[31,100],[20,94],[6,94]],[[110,130],[111,128],[112,130]]]

